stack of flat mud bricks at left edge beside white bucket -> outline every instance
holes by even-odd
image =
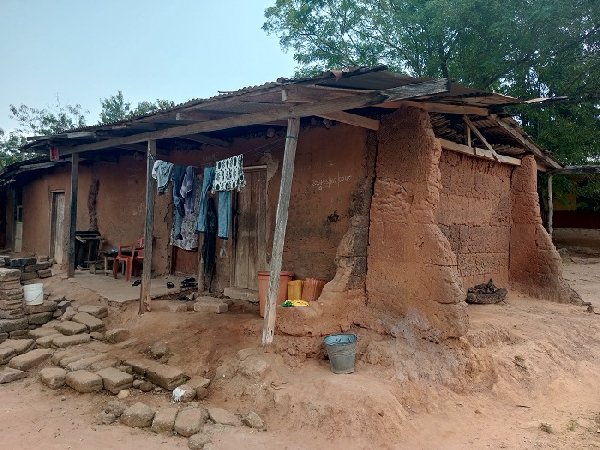
[[[20,339],[59,316],[57,304],[44,300],[41,305],[25,305],[21,271],[0,267],[0,342]]]

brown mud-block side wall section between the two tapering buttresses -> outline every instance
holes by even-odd
[[[512,166],[442,151],[440,230],[456,254],[465,288],[508,285]]]

